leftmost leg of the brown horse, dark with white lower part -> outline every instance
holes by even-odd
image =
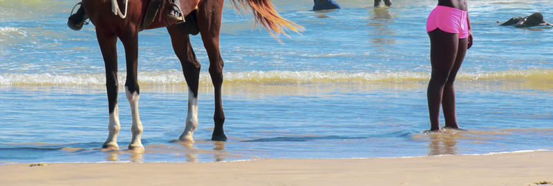
[[[118,80],[117,80],[117,37],[113,34],[106,34],[101,30],[96,31],[98,44],[104,57],[106,66],[106,91],[109,105],[109,135],[102,145],[104,149],[119,149],[117,135],[120,130],[119,109],[117,105]]]

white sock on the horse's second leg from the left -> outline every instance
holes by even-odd
[[[131,104],[131,114],[133,115],[133,125],[131,127],[131,132],[133,133],[133,139],[129,145],[129,149],[135,151],[144,151],[144,146],[142,146],[142,122],[140,122],[140,116],[138,115],[138,98],[140,95],[138,93],[129,91],[129,88],[125,86],[126,99],[129,100]]]

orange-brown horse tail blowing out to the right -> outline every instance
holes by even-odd
[[[277,10],[274,10],[274,6],[271,0],[231,0],[234,8],[238,10],[241,14],[244,13],[244,10],[250,9],[254,14],[254,19],[256,24],[261,24],[267,31],[269,31],[275,39],[277,35],[283,34],[287,37],[290,37],[286,34],[285,29],[292,30],[294,32],[303,31],[303,26],[295,24],[292,21],[288,21],[279,15]],[[271,31],[272,30],[272,31]],[[276,35],[275,35],[276,34]]]

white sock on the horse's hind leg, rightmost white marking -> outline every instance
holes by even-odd
[[[178,140],[194,142],[194,131],[198,127],[198,97],[188,88],[188,114],[186,116],[185,131],[182,132]]]

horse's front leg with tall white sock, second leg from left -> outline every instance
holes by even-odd
[[[138,98],[140,97],[140,88],[138,86],[137,69],[138,69],[138,32],[127,34],[128,37],[122,37],[121,42],[125,48],[126,59],[126,82],[125,94],[126,99],[131,105],[131,114],[133,116],[133,125],[131,132],[133,138],[129,144],[129,150],[135,152],[144,151],[142,146],[142,122],[138,114]]]

